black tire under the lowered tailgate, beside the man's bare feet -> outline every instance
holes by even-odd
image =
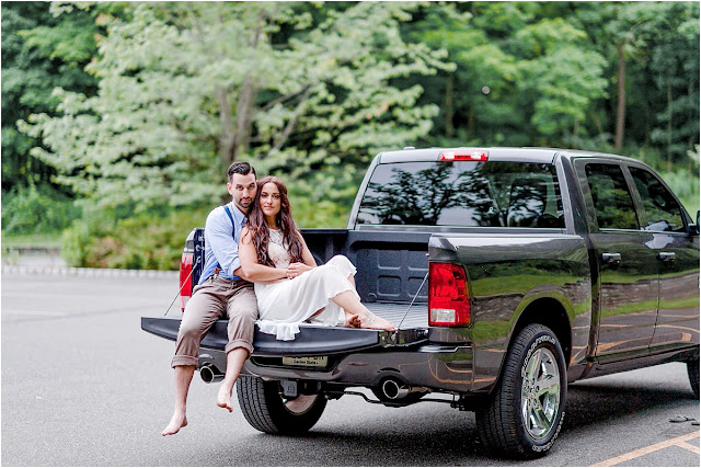
[[[237,395],[249,424],[268,434],[302,435],[317,424],[326,408],[323,395],[285,399],[279,381],[258,377],[240,376]]]

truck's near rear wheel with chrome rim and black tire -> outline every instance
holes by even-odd
[[[543,456],[562,427],[566,393],[565,358],[558,338],[548,327],[529,324],[509,346],[496,388],[475,411],[482,443],[509,458]]]

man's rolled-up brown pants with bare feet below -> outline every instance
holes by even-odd
[[[253,332],[258,317],[253,284],[212,276],[195,287],[185,306],[172,367],[199,364],[199,342],[221,316],[229,317],[227,354],[237,347],[248,350],[249,355],[253,352]]]

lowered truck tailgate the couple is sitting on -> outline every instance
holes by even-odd
[[[409,305],[371,303],[367,305],[378,316],[399,324]],[[141,329],[168,340],[177,339],[180,318],[141,317]],[[202,341],[202,347],[223,350],[227,344],[227,320],[218,320]],[[398,332],[321,327],[300,323],[295,340],[279,341],[255,329],[254,355],[313,356],[369,350],[372,347],[411,346],[427,341],[426,305],[412,306]]]

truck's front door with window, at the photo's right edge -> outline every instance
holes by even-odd
[[[635,165],[629,170],[659,271],[659,307],[651,350],[699,344],[699,236],[689,233],[689,216],[654,173]]]

